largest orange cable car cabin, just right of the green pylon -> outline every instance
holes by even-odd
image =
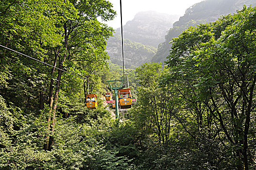
[[[132,107],[132,94],[130,88],[119,89],[119,104],[121,109]]]

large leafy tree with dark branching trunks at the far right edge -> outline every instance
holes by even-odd
[[[171,84],[187,101],[185,106],[194,113],[201,108],[199,113],[207,120],[203,129],[208,129],[213,139],[218,136],[222,145],[235,153],[235,166],[246,170],[252,164],[248,153],[253,152],[248,141],[254,136],[254,126],[250,126],[256,82],[254,11],[244,8],[234,16],[186,30],[173,40],[168,58],[169,81],[175,82]]]

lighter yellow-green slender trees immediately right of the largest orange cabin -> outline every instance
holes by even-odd
[[[167,71],[161,64],[143,64],[136,69],[139,87],[137,104],[132,110],[136,124],[159,144],[170,139],[172,115],[175,112],[171,86],[160,85],[159,79]]]

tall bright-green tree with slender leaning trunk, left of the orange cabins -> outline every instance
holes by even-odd
[[[102,20],[112,19],[115,16],[115,12],[111,9],[112,4],[105,0],[97,0],[95,2],[85,1],[67,1],[64,5],[67,10],[64,10],[62,4],[57,4],[59,12],[62,13],[67,19],[60,23],[60,27],[63,28],[63,42],[61,46],[54,48],[55,61],[58,58],[58,68],[63,69],[65,63],[77,61],[87,61],[90,63],[98,63],[98,61],[105,61],[107,59],[105,50],[106,38],[112,35],[113,29],[100,23],[97,17],[101,17]],[[70,12],[72,11],[72,12]],[[96,61],[96,62],[95,62]],[[93,67],[91,67],[93,68]],[[92,70],[91,70],[92,71]],[[88,73],[92,73],[89,71]],[[51,75],[53,75],[54,69],[52,69]],[[50,111],[49,111],[49,126],[51,132],[54,132],[55,127],[55,115],[57,110],[58,94],[60,90],[62,71],[58,70],[57,82],[55,85],[55,93],[53,95],[53,79],[51,79],[50,85]],[[51,122],[51,125],[50,125]],[[45,150],[51,150],[53,144],[53,137],[50,136],[49,143],[44,145]]]

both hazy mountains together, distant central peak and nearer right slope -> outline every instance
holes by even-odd
[[[236,13],[243,5],[255,6],[256,0],[205,0],[189,7],[179,19],[154,11],[137,13],[133,20],[123,26],[125,67],[136,68],[146,62],[164,63],[173,37],[190,26],[213,22],[221,16]],[[106,51],[112,63],[122,65],[120,28],[115,32],[114,37],[107,41]]]

